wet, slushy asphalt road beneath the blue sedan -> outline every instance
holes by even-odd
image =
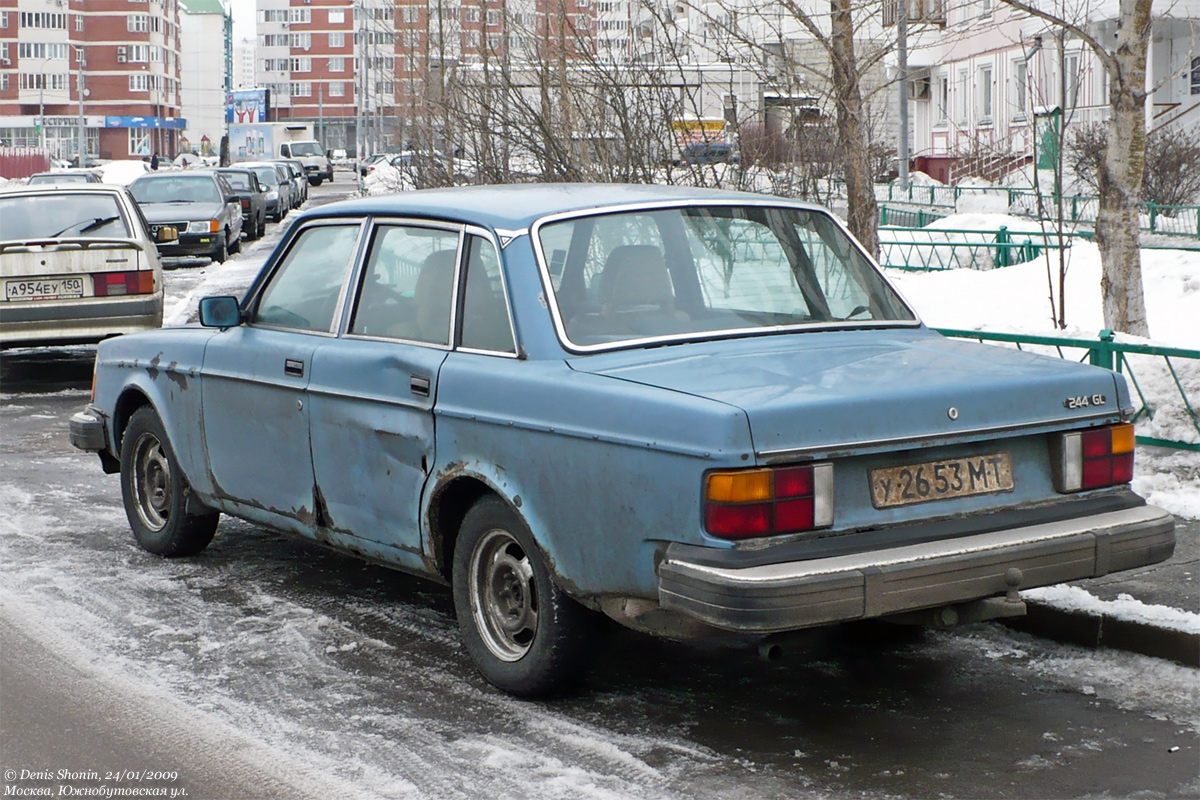
[[[196,558],[138,549],[66,439],[91,357],[0,356],[10,796],[1200,796],[1194,669],[990,624],[773,662],[612,631],[577,696],[515,700],[440,587],[234,519]]]

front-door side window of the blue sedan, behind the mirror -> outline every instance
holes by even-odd
[[[295,237],[259,295],[253,323],[328,332],[359,225],[313,225]]]

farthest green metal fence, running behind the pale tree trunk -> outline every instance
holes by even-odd
[[[844,190],[841,182],[836,182],[839,190]],[[914,186],[901,188],[896,184],[876,184],[875,198],[880,203],[904,203],[906,205],[925,205],[940,211],[913,211],[881,206],[880,224],[904,224],[922,227],[926,223],[913,222],[916,216],[898,217],[896,215],[920,215],[928,219],[940,219],[948,213],[954,213],[959,199],[964,194],[1003,194],[1008,203],[1009,213],[1014,216],[1037,217],[1056,216],[1057,199],[1052,193],[1038,193],[1033,190],[1006,188],[1006,187],[971,187],[971,186]],[[1063,219],[1072,224],[1096,224],[1096,215],[1099,211],[1100,200],[1098,197],[1088,194],[1072,194],[1062,198]],[[1156,234],[1169,236],[1192,236],[1200,239],[1200,205],[1159,205],[1157,203],[1141,204],[1141,229]]]

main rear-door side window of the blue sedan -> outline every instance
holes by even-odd
[[[349,332],[449,344],[457,264],[457,230],[380,225]]]

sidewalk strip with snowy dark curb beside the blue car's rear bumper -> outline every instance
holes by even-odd
[[[1163,564],[1021,593],[1028,614],[1008,625],[1200,667],[1200,522],[1176,519],[1175,536]]]

